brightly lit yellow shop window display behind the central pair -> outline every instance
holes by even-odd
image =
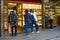
[[[23,4],[23,15],[25,14],[25,9],[32,9],[37,15],[37,22],[39,26],[42,26],[42,5],[41,4]],[[24,21],[24,16],[23,16]],[[24,22],[23,22],[24,25]]]

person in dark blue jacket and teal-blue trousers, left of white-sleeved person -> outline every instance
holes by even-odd
[[[25,21],[25,26],[24,26],[24,29],[26,31],[26,35],[28,35],[29,33],[29,30],[28,30],[28,27],[29,27],[29,23],[30,23],[30,18],[29,18],[30,14],[28,13],[28,9],[25,10],[25,15],[24,15],[24,21]]]

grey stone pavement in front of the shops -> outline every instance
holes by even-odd
[[[25,33],[20,33],[16,37],[5,35],[0,40],[60,40],[60,27],[53,30],[40,29],[39,31],[39,34],[30,32],[28,36],[25,36]]]

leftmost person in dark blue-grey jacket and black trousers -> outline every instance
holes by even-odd
[[[14,36],[14,29],[15,29],[15,36],[17,35],[17,15],[14,13],[14,11],[11,11],[10,14],[10,24],[11,24],[11,32],[12,36]]]

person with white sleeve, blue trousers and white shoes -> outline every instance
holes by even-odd
[[[34,13],[33,10],[30,9],[30,14],[31,14],[31,21],[32,21],[32,27],[31,27],[31,30],[32,30],[32,33],[34,33],[33,31],[33,28],[34,28],[34,25],[36,27],[36,33],[39,33],[39,26],[37,24],[37,17],[36,17],[36,14]]]

